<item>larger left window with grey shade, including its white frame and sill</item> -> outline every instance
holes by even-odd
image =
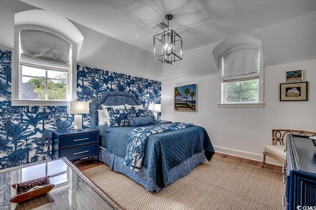
[[[12,59],[12,106],[67,106],[76,74],[74,42],[37,25],[15,28]],[[76,96],[76,95],[75,95]]]

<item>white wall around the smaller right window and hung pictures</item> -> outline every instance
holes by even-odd
[[[265,64],[315,58],[316,41],[311,39],[315,21],[316,12],[311,12],[245,35],[261,40]],[[203,126],[216,151],[258,161],[264,145],[272,143],[272,128],[316,131],[316,58],[265,66],[265,108],[218,108],[218,69],[212,55],[218,43],[185,51],[182,61],[163,65],[162,120]],[[285,72],[300,69],[309,82],[309,100],[280,102],[279,84],[285,83]],[[173,88],[183,84],[197,84],[197,112],[173,111]]]

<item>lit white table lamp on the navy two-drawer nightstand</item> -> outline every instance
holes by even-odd
[[[74,116],[74,129],[82,129],[82,115],[89,113],[89,102],[87,101],[71,101],[70,102],[70,114],[75,114]]]

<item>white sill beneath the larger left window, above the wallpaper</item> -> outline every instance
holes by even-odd
[[[11,100],[11,106],[68,106],[68,101]]]

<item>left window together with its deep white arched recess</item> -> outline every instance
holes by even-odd
[[[83,40],[71,21],[54,13],[15,13],[11,106],[67,106],[77,100],[77,55]]]

